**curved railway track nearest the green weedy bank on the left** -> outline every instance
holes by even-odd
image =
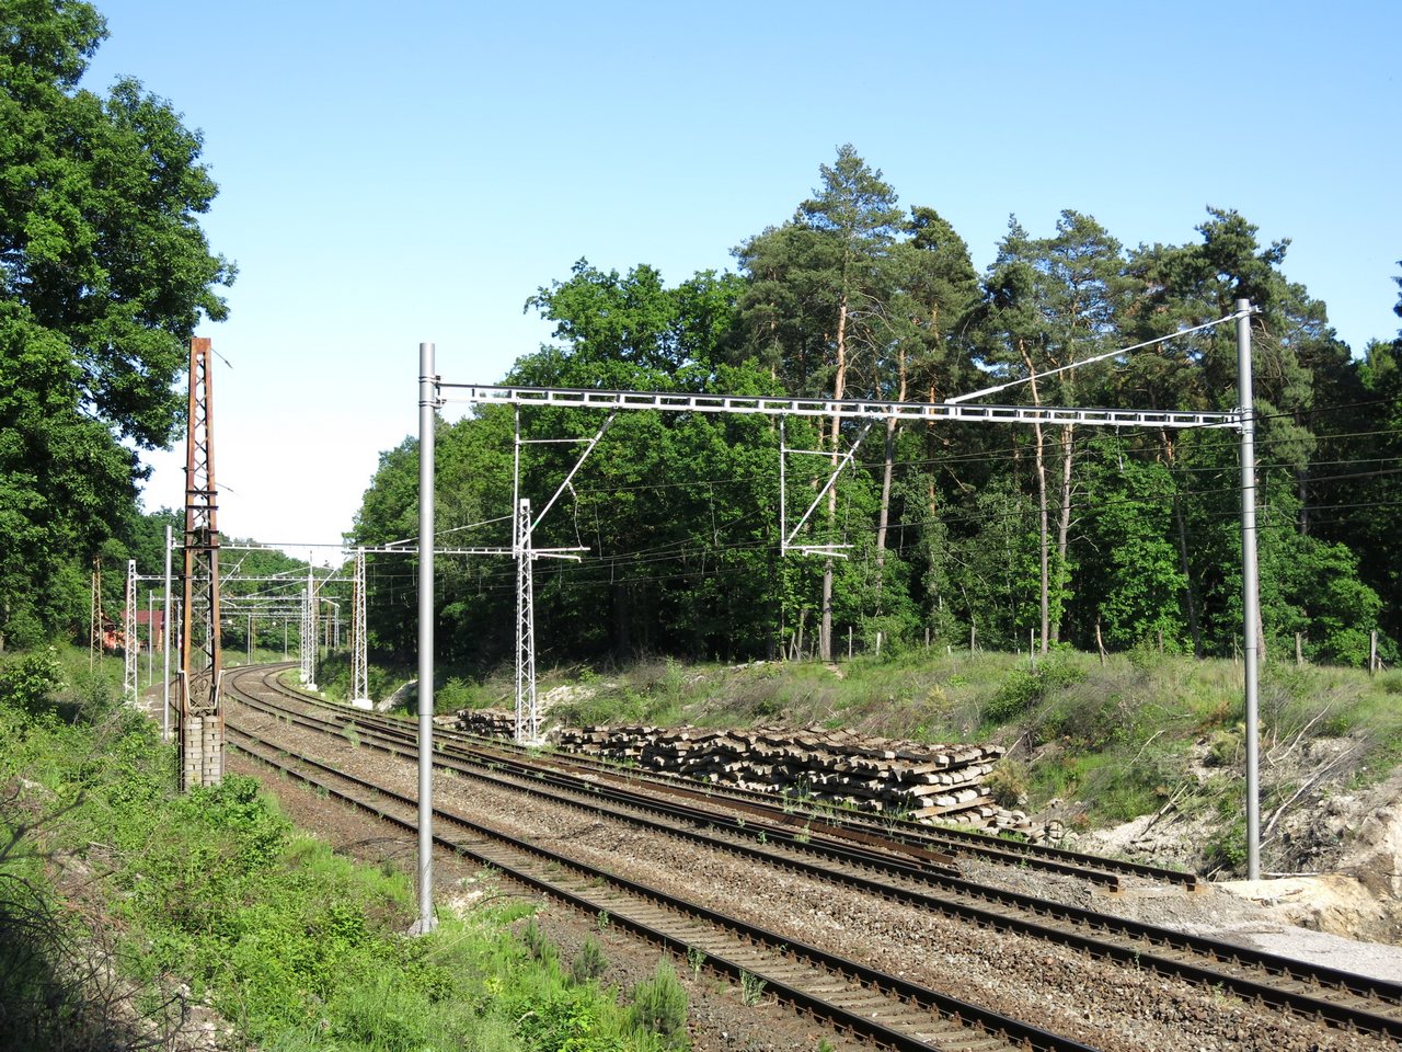
[[[238,700],[247,697],[237,677],[229,686]],[[416,830],[418,802],[411,797],[265,745],[241,731],[237,720],[226,727],[229,743],[241,752],[327,797]],[[1092,1052],[1081,1042],[566,858],[465,815],[446,808],[435,808],[433,815],[439,828],[451,829],[433,837],[437,847],[472,857],[648,943],[701,959],[705,968],[736,979],[742,989],[767,990],[861,1039],[893,1049]]]

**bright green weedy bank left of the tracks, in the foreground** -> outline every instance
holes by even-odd
[[[182,1017],[268,1052],[684,1044],[674,975],[600,987],[599,947],[562,962],[516,938],[533,906],[489,875],[411,938],[393,867],[297,833],[248,778],[175,793],[119,682],[76,651],[0,662],[0,1049],[133,1048]]]

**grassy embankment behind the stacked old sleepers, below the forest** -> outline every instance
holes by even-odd
[[[642,662],[541,679],[543,694],[573,685],[551,717],[572,724],[750,727],[820,724],[920,742],[995,742],[1008,759],[993,777],[1000,802],[1039,811],[1063,801],[1074,826],[1115,825],[1169,802],[1211,819],[1206,867],[1241,868],[1245,821],[1242,668],[1151,649],[1112,655],[910,651],[739,668]],[[439,711],[502,704],[509,670],[447,679]],[[1318,749],[1315,749],[1318,746]],[[1371,784],[1402,762],[1402,672],[1267,662],[1260,685],[1263,814],[1315,790]],[[1315,749],[1318,763],[1301,759]],[[1322,771],[1329,757],[1340,759]],[[1298,801],[1297,801],[1298,802]]]

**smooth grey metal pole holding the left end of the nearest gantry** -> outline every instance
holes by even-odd
[[[433,344],[419,344],[419,919],[433,917],[433,424],[437,405]]]

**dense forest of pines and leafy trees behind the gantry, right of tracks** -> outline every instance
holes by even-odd
[[[851,146],[813,196],[733,250],[736,272],[669,286],[580,259],[529,311],[552,341],[503,383],[541,387],[944,401],[1021,382],[1005,404],[1221,411],[1237,405],[1232,323],[1249,299],[1255,352],[1262,621],[1267,647],[1360,663],[1370,633],[1395,654],[1402,490],[1402,341],[1354,358],[1325,304],[1234,210],[1183,244],[1126,248],[1066,210],[1016,219],[979,274],[932,208],[903,209]],[[1402,279],[1399,279],[1402,281]],[[1402,313],[1402,303],[1398,304]],[[984,401],[990,401],[986,398]],[[604,419],[520,411],[522,495],[537,509]],[[443,546],[510,544],[510,407],[440,424]],[[788,418],[788,523],[862,435],[852,418]],[[1241,635],[1239,440],[1231,429],[1105,429],[880,421],[780,554],[778,422],[757,415],[618,414],[545,516],[534,562],[545,659],[639,654],[740,659],[886,647],[1136,645],[1230,655]],[[349,539],[416,534],[418,442],[381,454]],[[502,557],[437,562],[447,656],[513,647],[516,576]],[[414,648],[412,568],[372,564],[372,641]]]

